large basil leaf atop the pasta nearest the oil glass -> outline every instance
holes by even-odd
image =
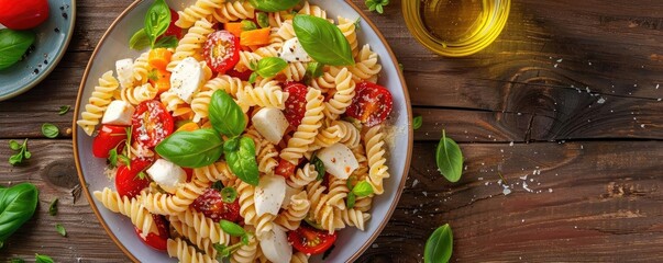
[[[292,21],[299,43],[316,61],[332,66],[354,66],[352,48],[343,32],[327,20],[295,15]]]

